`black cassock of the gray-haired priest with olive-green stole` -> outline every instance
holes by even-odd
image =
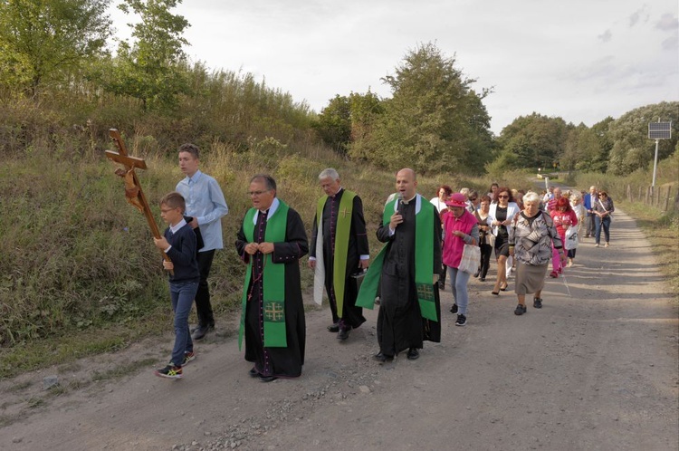
[[[335,233],[337,231],[337,219],[339,212],[339,201],[344,194],[341,189],[334,197],[329,196],[323,206],[323,264],[325,266],[325,290],[330,300],[330,312],[332,322],[340,320],[344,325],[357,328],[366,319],[363,317],[363,309],[356,306],[356,297],[359,295],[359,287],[356,279],[351,274],[359,272],[359,260],[361,255],[370,254],[368,250],[368,235],[366,233],[366,220],[363,217],[363,203],[360,197],[356,196],[353,200],[351,213],[351,227],[349,230],[349,247],[347,248],[347,267],[344,274],[344,302],[342,317],[339,318],[337,312],[337,301],[332,283],[332,273],[334,271],[334,249]],[[311,232],[310,255],[316,256],[316,240],[318,237],[317,219],[314,217],[313,231]]]

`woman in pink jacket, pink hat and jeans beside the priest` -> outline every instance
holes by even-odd
[[[457,268],[462,260],[464,245],[477,245],[479,242],[479,226],[476,217],[467,211],[466,201],[464,194],[455,193],[445,201],[448,211],[442,217],[445,234],[443,260],[448,267],[448,279],[453,291],[454,304],[450,312],[457,313],[456,326],[467,323],[467,283],[470,276]]]

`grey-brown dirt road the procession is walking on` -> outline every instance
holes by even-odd
[[[311,308],[297,380],[250,379],[232,330],[198,345],[179,381],[152,374],[169,335],[2,381],[0,448],[679,449],[677,308],[634,222],[617,212],[611,228],[610,248],[585,239],[566,280],[547,282],[541,310],[514,316],[511,291],[473,280],[455,327],[446,291],[443,340],[416,361],[372,360],[377,310],[339,343]],[[43,390],[50,374],[68,389]]]

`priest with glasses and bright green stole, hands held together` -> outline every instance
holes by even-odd
[[[253,378],[296,378],[304,364],[306,325],[300,258],[309,251],[300,215],[276,197],[267,175],[250,180],[253,202],[238,231],[236,250],[247,264],[238,335]]]

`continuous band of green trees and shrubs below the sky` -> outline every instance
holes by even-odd
[[[25,135],[17,128],[31,120],[45,126],[40,114],[27,120],[27,107],[16,107],[30,99],[41,110],[57,110],[62,124],[97,128],[95,139],[106,139],[111,126],[148,134],[148,141],[157,141],[152,150],[174,149],[186,136],[204,147],[222,141],[235,149],[252,139],[285,145],[319,139],[357,162],[430,174],[559,168],[626,175],[651,164],[655,142],[646,128],[658,119],[673,123],[673,138],[659,143],[659,158],[677,147],[677,101],[592,127],[533,112],[494,136],[483,104],[493,88],[475,89],[476,81],[435,43],[407,51],[393,75],[382,79],[389,97],[369,90],[338,94],[315,114],[252,74],[188,62],[184,33],[190,24],[172,13],[181,0],[121,0],[118,7],[139,20],[128,25],[129,41],[114,41],[113,52],[111,2],[0,0],[0,97],[10,105],[0,130],[5,142]],[[29,145],[24,139],[14,148]]]

